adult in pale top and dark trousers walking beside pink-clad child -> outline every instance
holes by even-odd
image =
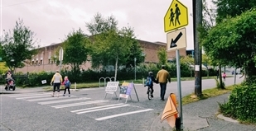
[[[53,85],[53,92],[51,95],[52,97],[54,97],[56,88],[57,88],[57,97],[59,97],[61,83],[62,83],[62,76],[60,75],[59,71],[56,71],[56,73],[51,78],[51,85]]]

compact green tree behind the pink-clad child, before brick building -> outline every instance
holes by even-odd
[[[88,60],[89,44],[89,37],[80,29],[67,35],[63,43],[63,64],[70,65],[73,73],[80,73],[80,65]]]

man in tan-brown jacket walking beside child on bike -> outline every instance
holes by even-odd
[[[164,96],[167,90],[167,82],[171,82],[170,74],[165,69],[165,66],[162,65],[161,70],[157,73],[157,82],[160,84],[160,97],[161,101],[164,101]]]

